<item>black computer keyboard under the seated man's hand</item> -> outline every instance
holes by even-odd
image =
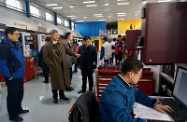
[[[187,121],[187,111],[175,102],[172,98],[159,99],[159,101],[164,105],[169,105],[173,109],[173,113],[169,113],[171,117],[177,122]]]

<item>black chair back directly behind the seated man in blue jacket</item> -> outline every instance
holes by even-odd
[[[69,122],[99,122],[99,104],[91,91],[83,93],[70,108]]]

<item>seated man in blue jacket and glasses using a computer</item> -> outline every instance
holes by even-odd
[[[143,64],[135,58],[127,58],[122,64],[121,73],[115,76],[102,93],[100,100],[100,122],[145,122],[134,118],[132,108],[135,102],[152,107],[159,112],[173,112],[168,105],[159,104],[138,90]]]

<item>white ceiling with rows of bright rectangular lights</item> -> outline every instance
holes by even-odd
[[[118,19],[134,20],[140,19],[141,8],[144,5],[142,0],[95,0],[94,4],[97,7],[86,7],[87,4],[83,4],[83,1],[91,0],[30,0],[40,6],[43,6],[49,10],[57,12],[58,15],[67,17],[70,15],[76,18],[72,21],[101,21],[104,19],[106,22],[117,21]],[[157,3],[158,0],[147,0],[147,3]],[[174,2],[176,0],[172,0]],[[129,5],[117,5],[117,3],[129,2]],[[52,7],[47,7],[46,4],[57,3],[58,6],[63,7],[60,10],[53,10]],[[104,4],[108,3],[108,6]],[[74,8],[70,8],[73,5]],[[117,13],[126,13],[125,17],[119,17]],[[94,14],[102,14],[103,17],[95,17]],[[136,15],[136,16],[135,16]],[[111,17],[108,17],[111,16]],[[87,18],[84,18],[87,17]]]

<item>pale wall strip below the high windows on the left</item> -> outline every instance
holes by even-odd
[[[70,29],[63,26],[56,26],[53,23],[38,19],[38,18],[27,18],[26,14],[11,10],[0,6],[0,23],[4,23],[7,26],[13,26],[17,28],[26,29],[23,26],[14,25],[14,23],[26,24],[28,30],[38,31],[38,26],[47,28],[47,32],[52,29],[58,30],[59,34],[65,34],[66,32],[72,32]],[[77,32],[73,32],[74,36],[80,36]]]

